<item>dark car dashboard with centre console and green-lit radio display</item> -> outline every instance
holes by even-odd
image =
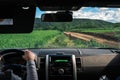
[[[120,54],[115,50],[29,50],[37,55],[36,67],[39,80],[99,80],[102,75],[107,75],[110,80],[115,80],[120,75]],[[9,59],[8,62],[17,60],[19,60],[19,56]]]

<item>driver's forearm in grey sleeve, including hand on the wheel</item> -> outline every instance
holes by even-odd
[[[27,61],[27,80],[38,80],[38,74],[35,66],[35,54],[25,50],[23,58]]]

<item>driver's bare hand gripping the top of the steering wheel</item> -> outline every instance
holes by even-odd
[[[25,59],[26,61],[34,61],[35,57],[36,55],[33,52],[29,50],[24,51],[23,59]]]

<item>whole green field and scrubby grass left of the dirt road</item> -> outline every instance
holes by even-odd
[[[106,47],[95,41],[69,39],[57,30],[34,30],[30,34],[1,34],[0,48],[88,48]]]

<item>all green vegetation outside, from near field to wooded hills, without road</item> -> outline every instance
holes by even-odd
[[[64,35],[64,32],[86,33],[118,40],[120,24],[101,20],[75,19],[73,22],[51,23],[35,19],[30,34],[0,34],[0,48],[95,48],[109,47],[94,39],[86,42]],[[102,35],[101,35],[102,34]]]

